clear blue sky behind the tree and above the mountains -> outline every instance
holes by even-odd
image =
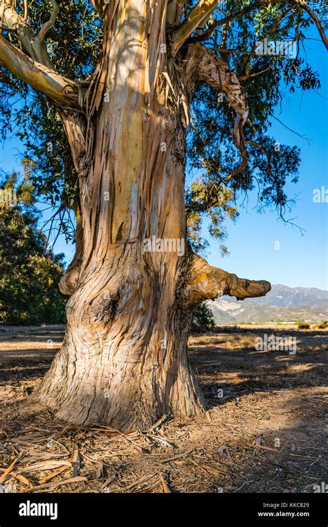
[[[314,31],[311,31],[312,36],[318,38]],[[281,144],[295,144],[301,148],[300,180],[287,187],[290,198],[297,196],[296,204],[286,218],[295,218],[294,223],[305,232],[302,236],[297,228],[277,221],[275,211],[258,214],[253,209],[255,196],[250,194],[247,209],[241,210],[237,223],[226,223],[230,256],[222,258],[219,242],[210,240],[208,261],[239,277],[267,279],[272,284],[291,287],[328,289],[328,202],[313,202],[314,189],[325,187],[328,190],[327,55],[321,42],[307,41],[307,60],[314,70],[320,71],[320,92],[293,95],[286,92],[282,111],[277,110],[275,116],[311,141],[301,139],[277,121],[271,129],[271,135]],[[1,168],[5,171],[19,169],[20,151],[17,139],[1,146]],[[206,232],[204,230],[203,234]],[[280,243],[279,250],[276,242]],[[66,245],[62,236],[54,250],[64,252],[67,263],[73,257],[74,248]]]

